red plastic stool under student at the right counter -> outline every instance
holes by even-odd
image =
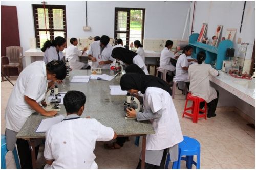
[[[187,102],[189,100],[193,102],[191,107],[187,107]],[[199,108],[200,102],[204,102],[204,109]],[[188,110],[191,110],[191,113],[188,113],[187,112]],[[199,114],[199,111],[203,112],[203,114]],[[207,103],[205,102],[205,100],[202,98],[193,96],[191,93],[189,93],[187,95],[187,100],[186,100],[182,117],[184,117],[184,115],[190,116],[192,117],[192,122],[197,123],[198,118],[204,117],[204,119],[206,120],[206,112],[207,112]]]

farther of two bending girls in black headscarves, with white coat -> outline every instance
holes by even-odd
[[[114,48],[111,56],[117,60],[121,60],[126,66],[130,64],[138,65],[148,75],[147,67],[139,54],[126,48]]]

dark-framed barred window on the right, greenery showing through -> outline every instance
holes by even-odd
[[[135,40],[143,44],[145,9],[115,8],[115,41],[123,40],[123,45],[129,45]]]

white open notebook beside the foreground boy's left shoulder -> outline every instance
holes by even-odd
[[[35,132],[46,132],[51,126],[61,122],[64,118],[65,116],[63,115],[59,115],[52,118],[46,118],[41,121],[40,125],[38,126]]]

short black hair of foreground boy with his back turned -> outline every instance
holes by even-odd
[[[67,113],[76,113],[86,104],[86,95],[81,91],[68,91],[63,100]]]

